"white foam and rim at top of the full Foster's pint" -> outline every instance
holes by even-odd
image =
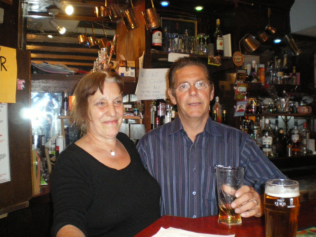
[[[270,182],[271,181],[271,182]],[[280,180],[281,182],[273,182],[269,180],[265,186],[265,194],[272,197],[298,197],[300,196],[300,188],[298,182],[294,181],[290,184],[288,181],[293,180]]]

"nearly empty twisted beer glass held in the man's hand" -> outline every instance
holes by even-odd
[[[216,167],[216,187],[218,195],[218,222],[224,225],[240,225],[240,213],[235,213],[231,203],[236,199],[235,193],[244,183],[244,168]]]

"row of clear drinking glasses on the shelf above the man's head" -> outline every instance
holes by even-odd
[[[174,53],[191,53],[199,55],[213,54],[210,51],[204,33],[197,36],[187,36],[178,33],[166,33],[163,41],[163,51]]]

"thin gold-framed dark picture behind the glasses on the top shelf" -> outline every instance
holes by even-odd
[[[175,19],[168,17],[160,17],[161,27],[164,31],[165,28],[170,30],[169,33],[179,33],[184,34],[187,30],[188,34],[191,36],[197,35],[197,20],[196,19]]]

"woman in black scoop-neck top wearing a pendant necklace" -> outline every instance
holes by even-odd
[[[75,121],[86,135],[56,161],[52,236],[134,236],[160,217],[160,187],[134,143],[119,132],[123,81],[93,72],[74,91]]]

